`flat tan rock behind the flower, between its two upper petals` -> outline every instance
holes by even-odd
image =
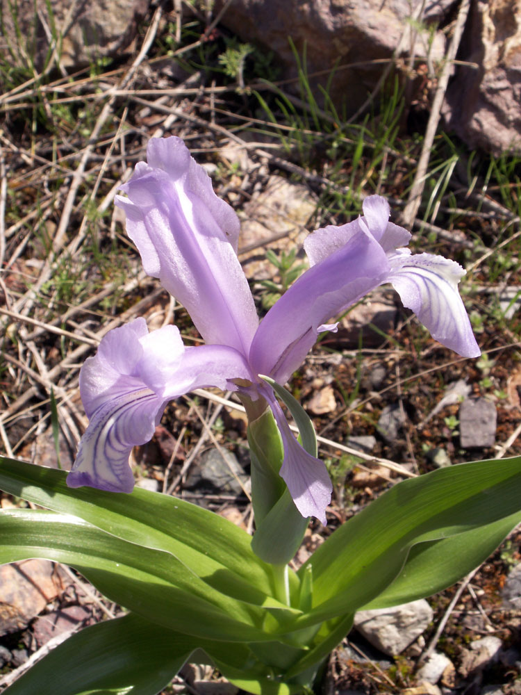
[[[306,186],[271,176],[265,190],[247,202],[240,213],[239,255],[248,279],[272,280],[278,270],[266,258],[269,245],[276,255],[300,247],[308,236],[315,199]],[[303,264],[304,256],[295,265]],[[295,267],[295,266],[294,266]]]

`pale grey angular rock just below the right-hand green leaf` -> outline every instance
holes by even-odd
[[[421,598],[392,608],[359,611],[354,626],[384,654],[394,656],[417,639],[432,618],[432,608]]]

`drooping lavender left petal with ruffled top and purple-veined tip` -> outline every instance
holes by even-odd
[[[226,345],[185,349],[174,326],[149,334],[139,318],[110,331],[81,369],[81,398],[90,423],[67,484],[131,492],[131,449],[151,439],[169,400],[200,386],[233,389],[231,379],[250,377],[237,350]]]

